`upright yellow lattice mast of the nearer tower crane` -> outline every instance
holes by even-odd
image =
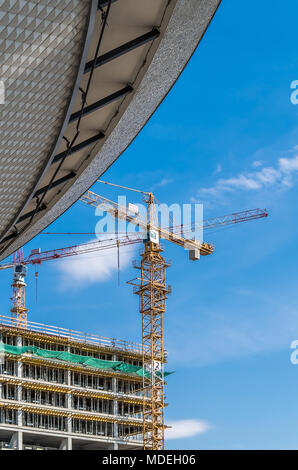
[[[134,264],[140,277],[129,283],[134,285],[134,293],[139,296],[142,317],[144,449],[161,450],[165,443],[163,316],[170,293],[166,284],[169,264],[161,254],[153,194],[149,193],[146,199],[147,238],[141,263],[139,266]]]

